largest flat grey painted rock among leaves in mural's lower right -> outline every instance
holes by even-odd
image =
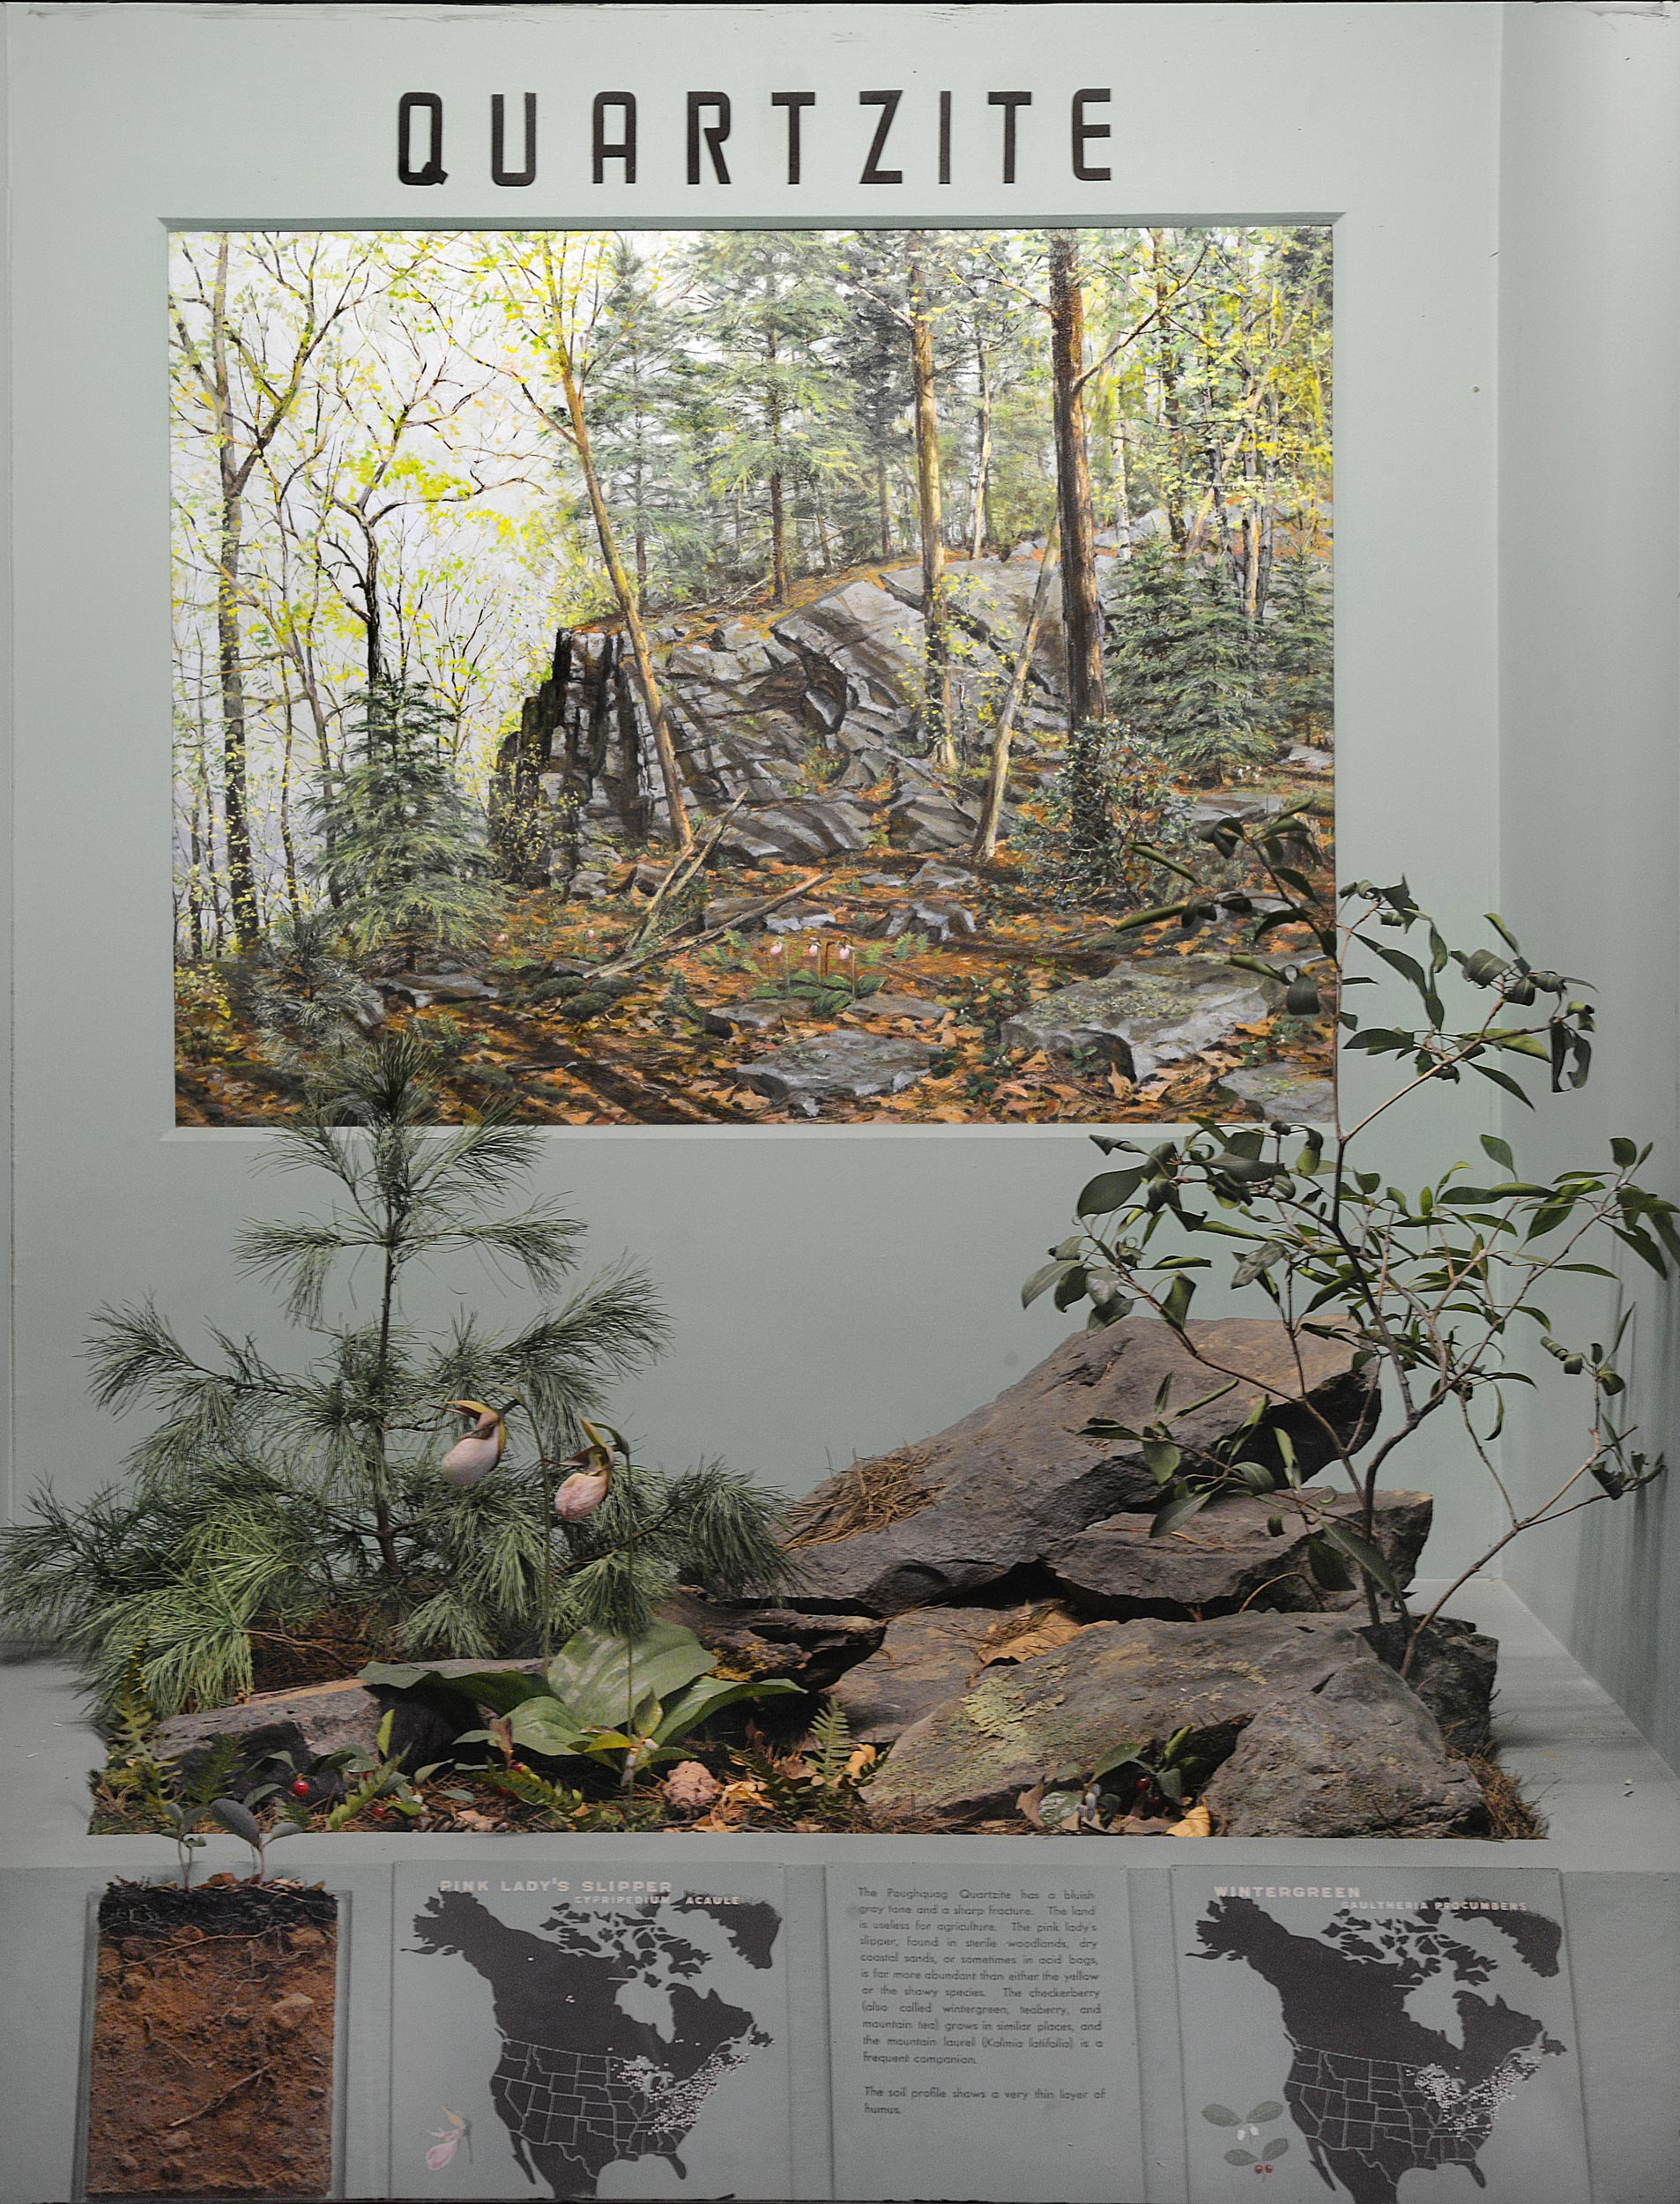
[[[1056,987],[1003,1020],[1012,1049],[1089,1049],[1122,1078],[1146,1080],[1270,1018],[1281,987],[1215,957],[1127,957],[1105,979]]]

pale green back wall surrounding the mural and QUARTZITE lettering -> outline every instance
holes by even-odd
[[[390,179],[397,90],[661,82],[1113,84],[1116,181],[1054,161],[983,220],[1336,218],[1343,868],[1495,895],[1493,7],[11,11],[15,190],[15,1201],[20,1492],[110,1474],[77,1347],[106,1296],[265,1325],[227,1263],[260,1139],[170,1131],[170,683],[163,225],[417,218]],[[902,71],[902,75],[900,75]],[[756,97],[756,95],[754,95]],[[816,159],[816,156],[814,156]],[[635,201],[492,194],[461,161],[437,223],[785,218],[772,172]],[[811,174],[818,174],[814,168]],[[811,220],[950,220],[930,185],[807,190]],[[1475,1104],[1466,1100],[1466,1111]],[[1453,1135],[1473,1142],[1482,1120]],[[1396,1135],[1404,1168],[1409,1128]],[[1016,1287],[1080,1184],[1078,1135],[785,1128],[549,1135],[602,1254],[666,1283],[677,1347],[624,1406],[653,1455],[721,1450],[805,1485],[1023,1371],[1056,1320]],[[1457,1148],[1453,1150],[1457,1153]],[[1440,1554],[1484,1523],[1453,1463]]]

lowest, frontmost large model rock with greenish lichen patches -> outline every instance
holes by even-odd
[[[900,1737],[864,1796],[880,1825],[979,1821],[1184,1728],[1191,1757],[1219,1763],[1204,1798],[1237,1836],[1446,1836],[1482,1812],[1435,1719],[1351,1622],[1254,1613],[1094,1622],[992,1666]]]

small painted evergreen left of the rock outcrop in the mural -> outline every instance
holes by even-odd
[[[313,804],[315,871],[362,957],[417,965],[478,948],[498,910],[478,820],[426,690],[368,683],[362,756]]]

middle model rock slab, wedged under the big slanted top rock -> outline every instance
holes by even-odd
[[[1318,1503],[1329,1494],[1314,1494]],[[1351,1492],[1336,1494],[1334,1512],[1358,1519]],[[1429,1538],[1433,1501],[1426,1492],[1380,1492],[1376,1543],[1409,1585]],[[1283,1521],[1283,1536],[1268,1521]],[[1083,1613],[1111,1620],[1129,1616],[1228,1616],[1243,1607],[1279,1611],[1321,1609],[1325,1593],[1307,1569],[1307,1527],[1288,1494],[1259,1499],[1230,1494],[1210,1501],[1166,1538],[1149,1534],[1146,1514],[1116,1514],[1094,1523],[1045,1556],[1060,1591]],[[1336,1605],[1356,1593],[1332,1596]]]

